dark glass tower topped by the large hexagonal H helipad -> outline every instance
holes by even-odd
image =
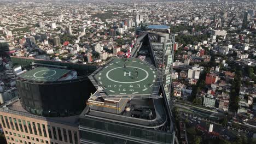
[[[132,55],[138,49],[133,50]],[[162,74],[154,59],[112,58],[89,79],[97,91],[79,117],[80,143],[174,143]]]

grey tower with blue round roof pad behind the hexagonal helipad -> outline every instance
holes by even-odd
[[[173,47],[174,35],[168,31],[170,27],[164,25],[142,25],[142,30],[139,33],[147,33],[152,45],[152,54],[155,57],[156,66],[162,70],[163,85],[167,100],[170,100],[171,92],[171,74],[173,64]]]

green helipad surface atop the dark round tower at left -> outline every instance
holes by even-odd
[[[22,77],[23,79],[33,81],[57,81],[63,75],[67,74],[69,71],[71,70],[37,67],[35,69],[27,71],[24,74],[21,74],[20,77]]]

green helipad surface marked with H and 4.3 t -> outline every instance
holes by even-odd
[[[125,62],[115,58],[95,75],[95,79],[108,95],[150,95],[156,77],[154,66],[138,58],[129,58]]]

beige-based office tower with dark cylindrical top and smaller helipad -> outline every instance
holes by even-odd
[[[97,67],[19,57],[11,61],[19,98],[0,108],[7,142],[80,143],[78,117],[96,91],[86,75]]]

